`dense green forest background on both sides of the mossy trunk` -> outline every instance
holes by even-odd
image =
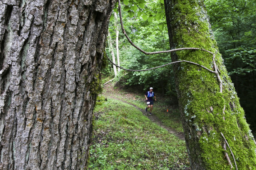
[[[170,49],[163,0],[121,2],[126,33],[137,46],[147,52]],[[219,51],[255,136],[256,0],[205,0],[205,4]],[[116,18],[115,12],[118,13],[117,8],[114,8],[111,17],[110,36],[106,43],[109,57],[119,54],[120,65],[128,69],[147,69],[171,62],[168,53],[147,56],[132,47],[123,34],[118,34],[121,29],[119,15]],[[114,77],[113,69],[109,63],[102,71],[103,82]],[[142,91],[154,87],[157,93],[166,95],[166,102],[176,102],[172,70],[171,65],[145,72],[120,70],[115,79],[123,85],[140,87]]]

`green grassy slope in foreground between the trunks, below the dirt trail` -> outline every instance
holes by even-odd
[[[190,169],[185,141],[133,106],[108,99],[95,107],[94,116],[88,170]]]

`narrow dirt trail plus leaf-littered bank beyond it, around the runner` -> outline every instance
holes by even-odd
[[[118,85],[113,86],[112,84],[109,84],[104,88],[104,93],[102,95],[105,95],[107,98],[120,100],[122,102],[132,105],[136,109],[140,110],[140,112],[142,112],[143,115],[147,116],[152,122],[158,124],[161,128],[164,128],[169,133],[175,134],[175,136],[177,136],[178,138],[185,140],[179,113],[178,113],[178,117],[177,115],[171,115],[174,112],[178,112],[178,105],[168,105],[166,103],[163,103],[163,100],[164,100],[163,96],[161,95],[157,96],[157,102],[154,102],[154,107],[153,107],[154,109],[152,110],[152,113],[154,114],[149,115],[149,111],[146,112],[144,107],[146,106],[144,93],[139,92],[138,89],[124,88],[122,86],[118,86]],[[158,103],[158,101],[160,103]],[[144,105],[142,106],[143,109],[138,107],[136,104]],[[169,113],[167,112],[167,109]],[[166,124],[164,117],[168,119],[170,118],[172,119],[172,121],[169,122],[169,124]],[[175,125],[170,126],[170,124],[176,124],[176,126]]]

